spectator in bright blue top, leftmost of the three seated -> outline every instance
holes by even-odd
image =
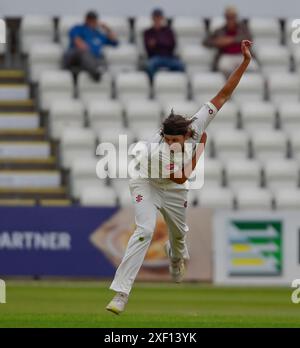
[[[92,78],[101,78],[100,66],[104,64],[103,46],[117,46],[115,33],[98,21],[96,12],[86,14],[85,23],[74,26],[70,32],[70,45],[64,57],[66,69],[78,67],[90,73]]]

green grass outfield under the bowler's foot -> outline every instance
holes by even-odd
[[[127,311],[104,310],[104,282],[7,281],[0,327],[300,327],[289,288],[137,283]]]

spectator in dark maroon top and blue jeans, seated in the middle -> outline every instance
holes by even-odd
[[[161,9],[152,12],[153,26],[144,32],[144,45],[148,54],[147,72],[152,79],[155,73],[165,68],[171,71],[184,71],[183,63],[174,55],[175,34],[165,24]]]

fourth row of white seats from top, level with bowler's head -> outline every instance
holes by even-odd
[[[49,130],[54,139],[60,139],[69,127],[90,126],[100,138],[112,140],[111,133],[117,137],[127,134],[129,141],[150,136],[160,127],[161,120],[175,113],[185,116],[194,115],[202,104],[193,101],[182,101],[160,104],[154,100],[137,100],[123,105],[117,100],[94,100],[85,107],[80,100],[55,100],[49,111]],[[284,130],[287,135],[300,130],[300,102],[284,102],[278,107],[270,102],[245,102],[240,106],[228,102],[219,111],[210,124],[208,134],[216,138],[214,133],[220,131],[241,134],[247,138],[247,132],[268,131],[274,134]],[[287,137],[286,135],[279,136]],[[245,140],[247,141],[247,140]],[[243,143],[245,142],[243,141]],[[278,142],[281,140],[278,140]],[[115,141],[113,141],[115,143]],[[281,142],[282,143],[282,142]]]

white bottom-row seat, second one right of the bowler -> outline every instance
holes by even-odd
[[[236,191],[239,210],[271,210],[272,194],[264,188],[242,187]]]

